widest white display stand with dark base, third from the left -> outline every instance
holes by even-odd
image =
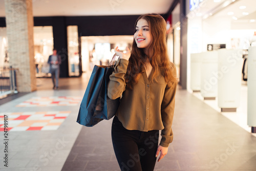
[[[242,50],[218,50],[218,106],[222,112],[236,112],[240,105]]]

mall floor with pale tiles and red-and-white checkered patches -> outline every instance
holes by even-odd
[[[1,170],[120,170],[111,142],[111,120],[103,120],[93,127],[79,125],[76,118],[80,102],[17,106],[43,97],[81,97],[88,79],[86,74],[82,78],[60,79],[59,90],[52,90],[51,79],[40,78],[38,91],[0,105],[0,115],[11,116],[8,122],[13,129],[22,124],[12,123],[15,118],[25,122],[20,127],[29,126],[26,121],[31,120],[36,121],[32,127],[59,123],[55,130],[11,129],[8,132],[8,168],[3,162],[5,147],[0,143]],[[44,117],[46,119],[42,119]],[[51,122],[54,118],[62,122]],[[184,90],[177,91],[173,131],[174,141],[168,154],[156,164],[157,171],[256,170],[256,137]],[[3,142],[4,132],[0,132],[0,137]]]

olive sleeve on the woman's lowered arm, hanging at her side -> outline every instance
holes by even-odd
[[[173,65],[173,74],[176,77],[176,67]],[[174,117],[174,106],[175,106],[175,94],[177,88],[177,81],[173,83],[172,87],[166,85],[163,101],[161,104],[161,117],[164,125],[164,129],[161,132],[160,145],[168,147],[169,143],[173,141],[173,117]]]

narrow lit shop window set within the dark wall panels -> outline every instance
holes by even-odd
[[[68,26],[69,76],[79,76],[78,28]]]

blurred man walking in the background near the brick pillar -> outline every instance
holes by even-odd
[[[49,56],[48,63],[50,64],[50,73],[53,82],[53,89],[58,89],[58,82],[59,82],[59,65],[61,64],[60,55],[57,54],[57,50],[53,49],[53,54]],[[56,79],[56,84],[54,81],[54,77]]]

